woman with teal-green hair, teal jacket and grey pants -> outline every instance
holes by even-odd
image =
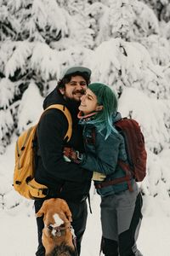
[[[117,165],[117,160],[127,162],[127,152],[124,139],[114,126],[121,119],[115,93],[105,84],[89,84],[79,110],[86,154],[71,148],[65,150],[65,155],[94,172],[94,185],[98,188],[102,177],[105,181],[125,177],[126,173]],[[142,197],[133,177],[130,183],[132,191],[126,181],[97,189],[101,195],[101,249],[105,256],[142,255],[136,247]]]

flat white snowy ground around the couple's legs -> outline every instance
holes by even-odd
[[[146,201],[144,200],[144,204]],[[148,205],[149,203],[149,205]],[[170,218],[161,211],[160,201],[147,201],[139,233],[138,246],[144,256],[169,256]],[[153,207],[153,208],[152,208]],[[24,208],[23,208],[24,209]],[[92,198],[93,214],[88,214],[88,225],[82,241],[82,256],[99,255],[100,223],[99,196]],[[28,217],[30,215],[30,217]],[[33,209],[1,212],[0,256],[33,256],[37,248],[37,226]]]

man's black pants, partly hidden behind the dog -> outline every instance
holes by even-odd
[[[35,211],[38,212],[42,207],[42,203],[44,200],[36,200]],[[75,234],[77,236],[77,253],[80,255],[81,252],[81,241],[83,233],[86,229],[86,222],[88,217],[88,209],[86,201],[67,201],[68,206],[70,207],[72,213],[72,227],[75,230]],[[42,245],[42,229],[44,227],[43,217],[37,218],[37,232],[38,232],[38,247],[37,247],[37,256],[45,255],[45,248]]]

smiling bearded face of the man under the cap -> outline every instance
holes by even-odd
[[[71,81],[68,84],[65,84],[65,88],[60,89],[60,92],[65,96],[65,98],[80,102],[80,98],[84,95],[86,90],[86,80],[83,79],[82,76],[77,75],[75,77],[71,77]]]

